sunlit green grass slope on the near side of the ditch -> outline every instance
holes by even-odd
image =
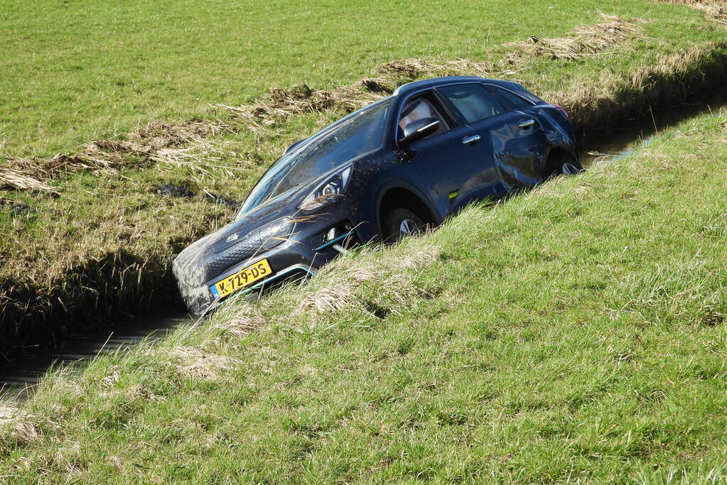
[[[726,157],[727,116],[692,121],[57,375],[0,475],[727,478]]]

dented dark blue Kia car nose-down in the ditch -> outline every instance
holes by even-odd
[[[453,76],[409,83],[292,144],[235,220],[174,260],[188,310],[315,274],[346,248],[440,224],[577,171],[563,108],[518,83]]]

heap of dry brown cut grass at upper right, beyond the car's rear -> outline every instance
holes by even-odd
[[[514,46],[514,52],[506,60],[513,64],[528,57],[549,57],[554,60],[577,60],[581,57],[601,54],[608,47],[624,44],[642,36],[638,23],[643,20],[625,20],[614,15],[601,14],[602,21],[595,25],[577,27],[571,36],[540,38],[531,36],[527,41],[505,44]]]

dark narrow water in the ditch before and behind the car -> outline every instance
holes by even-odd
[[[727,110],[727,94],[708,102],[684,102],[666,109],[650,111],[646,117],[627,120],[619,127],[608,127],[603,135],[595,134],[579,143],[585,168],[596,162],[622,157],[648,140],[650,136],[700,115]],[[23,359],[0,362],[0,394],[11,399],[27,399],[39,379],[52,367],[82,369],[98,355],[131,349],[142,341],[156,341],[190,322],[182,309],[170,306],[148,314],[116,322],[113,328],[97,330],[69,339],[60,349],[30,349]],[[1,359],[1,356],[0,356]]]

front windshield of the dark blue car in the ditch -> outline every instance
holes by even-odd
[[[312,136],[310,142],[283,155],[257,182],[239,214],[300,187],[348,160],[376,150],[383,142],[390,106],[391,100],[371,105],[334,123]]]

